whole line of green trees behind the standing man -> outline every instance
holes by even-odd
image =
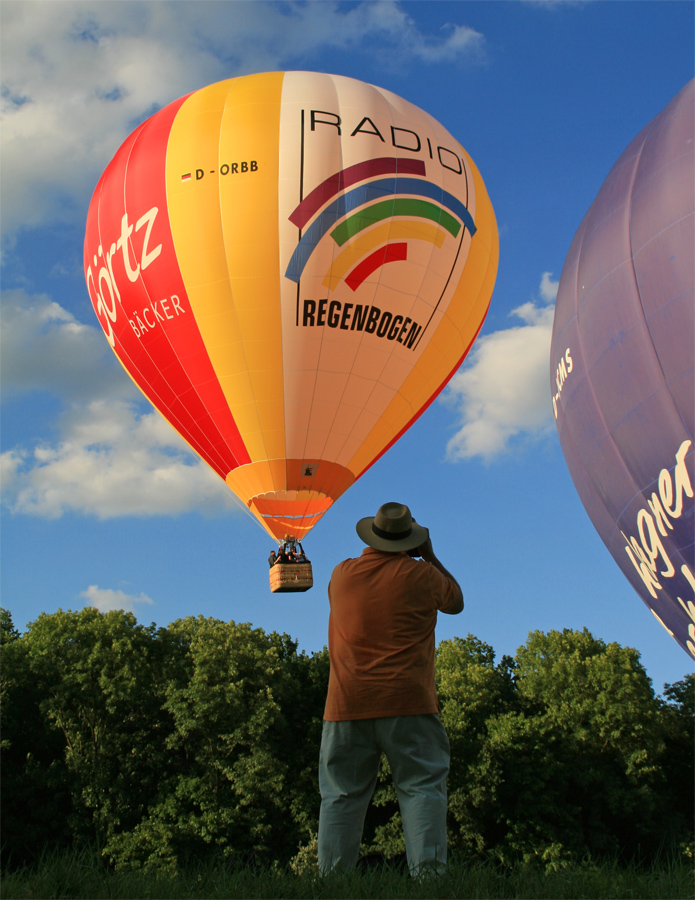
[[[328,652],[286,634],[132,613],[3,610],[2,856],[90,845],[117,868],[288,862],[317,830]],[[691,846],[695,678],[655,696],[636,650],[532,632],[495,661],[437,648],[450,851],[546,869]],[[365,852],[404,850],[382,760]]]

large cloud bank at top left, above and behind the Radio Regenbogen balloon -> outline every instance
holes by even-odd
[[[407,8],[407,7],[406,7]],[[327,48],[383,60],[477,58],[461,25],[422,34],[398,3],[5,2],[2,228],[84,218],[116,148],[156,109],[205,84]]]

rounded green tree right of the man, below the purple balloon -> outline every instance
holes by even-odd
[[[565,629],[531,633],[516,662],[506,846],[525,858],[544,847],[550,863],[655,849],[663,742],[637,651]]]

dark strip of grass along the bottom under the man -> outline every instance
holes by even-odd
[[[694,895],[693,867],[684,862],[658,868],[582,865],[544,874],[530,868],[501,873],[489,864],[452,860],[445,876],[416,880],[403,869],[380,866],[349,875],[318,879],[290,871],[228,870],[221,866],[190,868],[176,875],[112,872],[87,853],[47,854],[41,863],[5,875],[3,900],[117,900],[117,898],[475,898],[475,900],[689,900]]]

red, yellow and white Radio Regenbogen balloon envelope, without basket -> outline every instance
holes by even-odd
[[[85,277],[128,373],[278,539],[427,408],[487,312],[494,213],[431,116],[350,78],[210,85],[125,141]]]

